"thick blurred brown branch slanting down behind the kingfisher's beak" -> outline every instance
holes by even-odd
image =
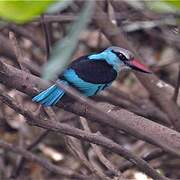
[[[116,1],[112,1],[112,5],[116,10]],[[132,48],[133,46],[127,41],[125,35],[121,32],[119,27],[114,25],[108,19],[107,14],[100,6],[98,6],[98,4],[96,5],[95,12],[96,19],[94,19],[93,22],[102,30],[110,42],[113,45],[131,50],[137,57],[139,57],[136,53],[137,51]],[[142,59],[142,57],[139,57],[139,59]],[[165,85],[163,87],[159,87],[158,84],[161,83],[161,81],[155,75],[142,75],[138,72],[135,74],[143,86],[148,90],[153,100],[167,114],[174,127],[180,130],[180,108],[171,100],[169,89]]]

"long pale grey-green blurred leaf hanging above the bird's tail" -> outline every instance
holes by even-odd
[[[86,1],[77,22],[74,22],[68,35],[58,41],[52,49],[49,62],[43,69],[43,78],[52,80],[69,64],[76,49],[81,32],[86,28],[93,14],[94,1]]]

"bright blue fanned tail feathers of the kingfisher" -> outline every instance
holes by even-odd
[[[63,81],[63,83],[67,84],[66,81]],[[36,95],[32,101],[38,102],[45,107],[54,106],[63,95],[64,91],[54,84],[45,91]]]

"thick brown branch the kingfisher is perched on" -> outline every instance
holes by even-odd
[[[31,97],[36,95],[39,90],[48,87],[46,81],[4,64],[2,61],[0,61],[0,83],[24,92]],[[133,136],[162,147],[165,151],[180,156],[180,134],[148,119],[122,110],[109,113],[113,116],[113,118],[109,118],[106,114],[101,116],[99,112],[95,113],[90,108],[87,110],[81,103],[63,103],[63,100],[58,106],[89,120],[106,124],[117,130],[126,131]],[[101,108],[103,112],[108,111],[106,106],[101,106]]]

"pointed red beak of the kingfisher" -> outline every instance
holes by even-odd
[[[152,73],[152,71],[150,71],[148,67],[146,67],[144,64],[141,64],[137,59],[129,61],[128,65],[134,70],[141,71],[144,73]]]

